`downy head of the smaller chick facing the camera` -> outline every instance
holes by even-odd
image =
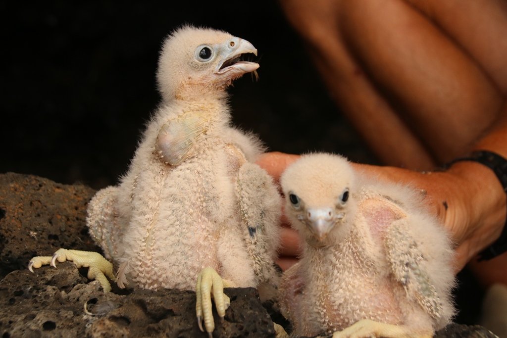
[[[283,173],[285,213],[302,239],[328,246],[351,229],[356,205],[354,172],[348,161],[331,154],[302,156]]]

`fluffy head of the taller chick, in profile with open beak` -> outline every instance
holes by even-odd
[[[164,100],[224,92],[233,80],[255,71],[259,64],[244,61],[257,55],[248,41],[225,31],[184,26],[163,43],[157,70]]]

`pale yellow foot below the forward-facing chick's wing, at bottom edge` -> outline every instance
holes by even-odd
[[[432,332],[414,333],[406,326],[379,323],[363,319],[343,331],[333,333],[333,338],[431,338]]]

